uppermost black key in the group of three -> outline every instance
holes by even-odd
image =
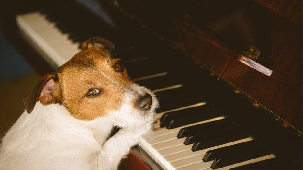
[[[183,137],[187,137],[188,135],[194,136],[197,134],[214,132],[216,130],[225,129],[225,128],[228,128],[228,127],[231,127],[234,125],[235,125],[235,123],[233,122],[232,119],[225,118],[225,119],[216,120],[216,121],[212,121],[212,122],[208,122],[208,123],[204,123],[204,124],[197,124],[194,126],[182,128],[179,130],[177,137],[178,137],[178,139],[180,139]]]

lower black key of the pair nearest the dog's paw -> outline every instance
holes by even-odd
[[[170,119],[168,124],[166,125],[166,128],[173,129],[186,124],[192,124],[220,116],[222,116],[222,114],[219,111],[212,111],[209,113],[201,112],[201,113],[188,114],[187,117],[180,117],[179,119]]]

